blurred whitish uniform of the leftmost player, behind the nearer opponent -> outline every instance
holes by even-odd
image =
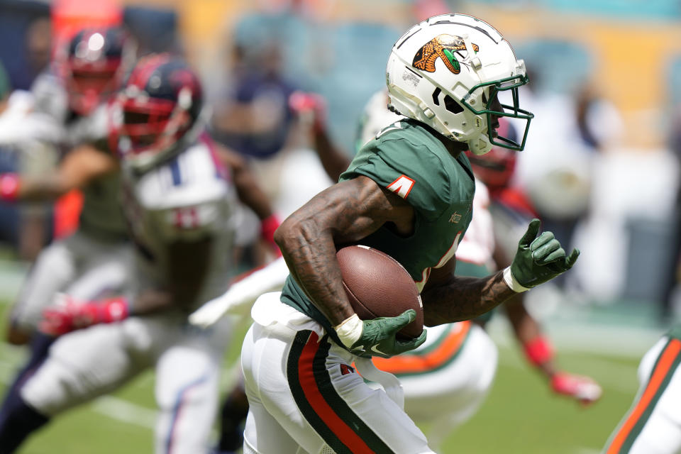
[[[37,153],[38,143],[46,141],[69,150],[107,137],[106,107],[99,106],[87,117],[70,118],[66,96],[60,79],[49,72],[36,79],[33,109],[24,112],[26,123],[33,125],[28,134],[36,137],[21,141],[24,155]],[[40,253],[11,311],[13,326],[33,332],[56,292],[97,299],[129,291],[133,249],[120,208],[119,178],[108,175],[82,188],[78,231]]]

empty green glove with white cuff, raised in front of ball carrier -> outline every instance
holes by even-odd
[[[540,224],[539,219],[530,222],[518,243],[518,251],[511,266],[504,270],[506,284],[516,292],[531,289],[562,275],[575,265],[580,256],[579,249],[573,249],[566,256],[565,250],[551,232],[537,236]]]

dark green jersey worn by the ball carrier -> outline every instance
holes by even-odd
[[[382,250],[399,261],[419,291],[433,267],[453,258],[472,218],[475,194],[470,162],[463,153],[455,159],[453,143],[418,121],[393,123],[367,143],[343,172],[345,181],[363,175],[414,207],[414,233],[403,237],[386,226],[359,244]],[[319,309],[289,276],[282,301],[335,331]]]

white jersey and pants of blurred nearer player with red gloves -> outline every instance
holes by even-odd
[[[167,286],[167,247],[211,236],[209,269],[195,301],[227,287],[236,191],[221,175],[206,143],[197,143],[141,175],[123,172],[126,218],[138,245],[138,289]],[[177,285],[177,282],[175,282]],[[131,316],[59,338],[48,360],[21,389],[24,401],[46,415],[110,392],[155,367],[160,409],[157,453],[206,452],[218,403],[218,373],[228,344],[228,321],[208,329],[187,323],[184,309]]]

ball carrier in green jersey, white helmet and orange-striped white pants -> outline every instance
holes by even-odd
[[[251,311],[241,355],[245,453],[432,452],[399,402],[350,367],[379,375],[368,358],[413,350],[426,335],[395,337],[414,311],[361,321],[345,296],[336,248],[363,243],[401,262],[421,291],[427,326],[484,314],[570,269],[579,252],[566,254],[550,232],[538,236],[533,220],[511,266],[483,278],[453,274],[475,192],[463,151],[524,147],[532,114],[520,108],[517,89],[527,82],[509,43],[471,16],[430,18],[394,45],[387,85],[392,108],[407,118],[384,128],[341,182],[275,233],[291,275],[281,294],[263,295]],[[503,106],[497,94],[506,91],[513,104]],[[497,133],[501,116],[524,121],[521,140]]]

